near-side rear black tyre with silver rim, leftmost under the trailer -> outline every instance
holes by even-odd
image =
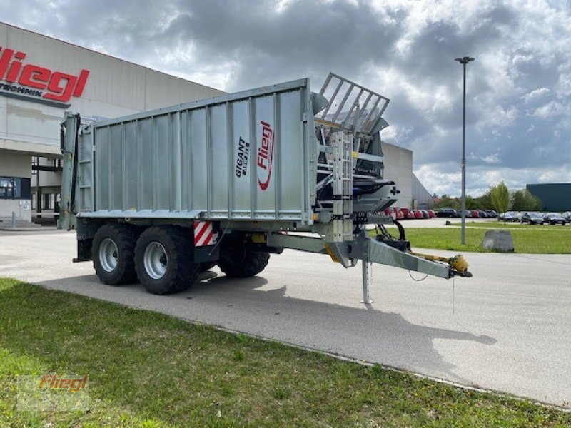
[[[107,285],[137,282],[136,240],[136,228],[130,225],[103,225],[98,228],[91,245],[91,258],[101,282]]]

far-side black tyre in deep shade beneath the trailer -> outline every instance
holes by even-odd
[[[218,267],[229,277],[249,278],[264,270],[268,260],[268,253],[248,250],[240,239],[225,238],[221,243]]]

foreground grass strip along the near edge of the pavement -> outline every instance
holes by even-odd
[[[89,412],[17,412],[18,375],[46,372],[89,374]],[[0,427],[570,425],[527,401],[0,279]]]

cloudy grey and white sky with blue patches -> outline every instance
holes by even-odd
[[[20,0],[0,20],[159,71],[241,91],[329,71],[390,98],[383,131],[430,192],[571,182],[567,0]]]

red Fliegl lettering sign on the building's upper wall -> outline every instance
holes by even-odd
[[[68,108],[71,97],[84,92],[89,70],[76,76],[25,64],[25,52],[0,46],[0,54],[0,96]]]

